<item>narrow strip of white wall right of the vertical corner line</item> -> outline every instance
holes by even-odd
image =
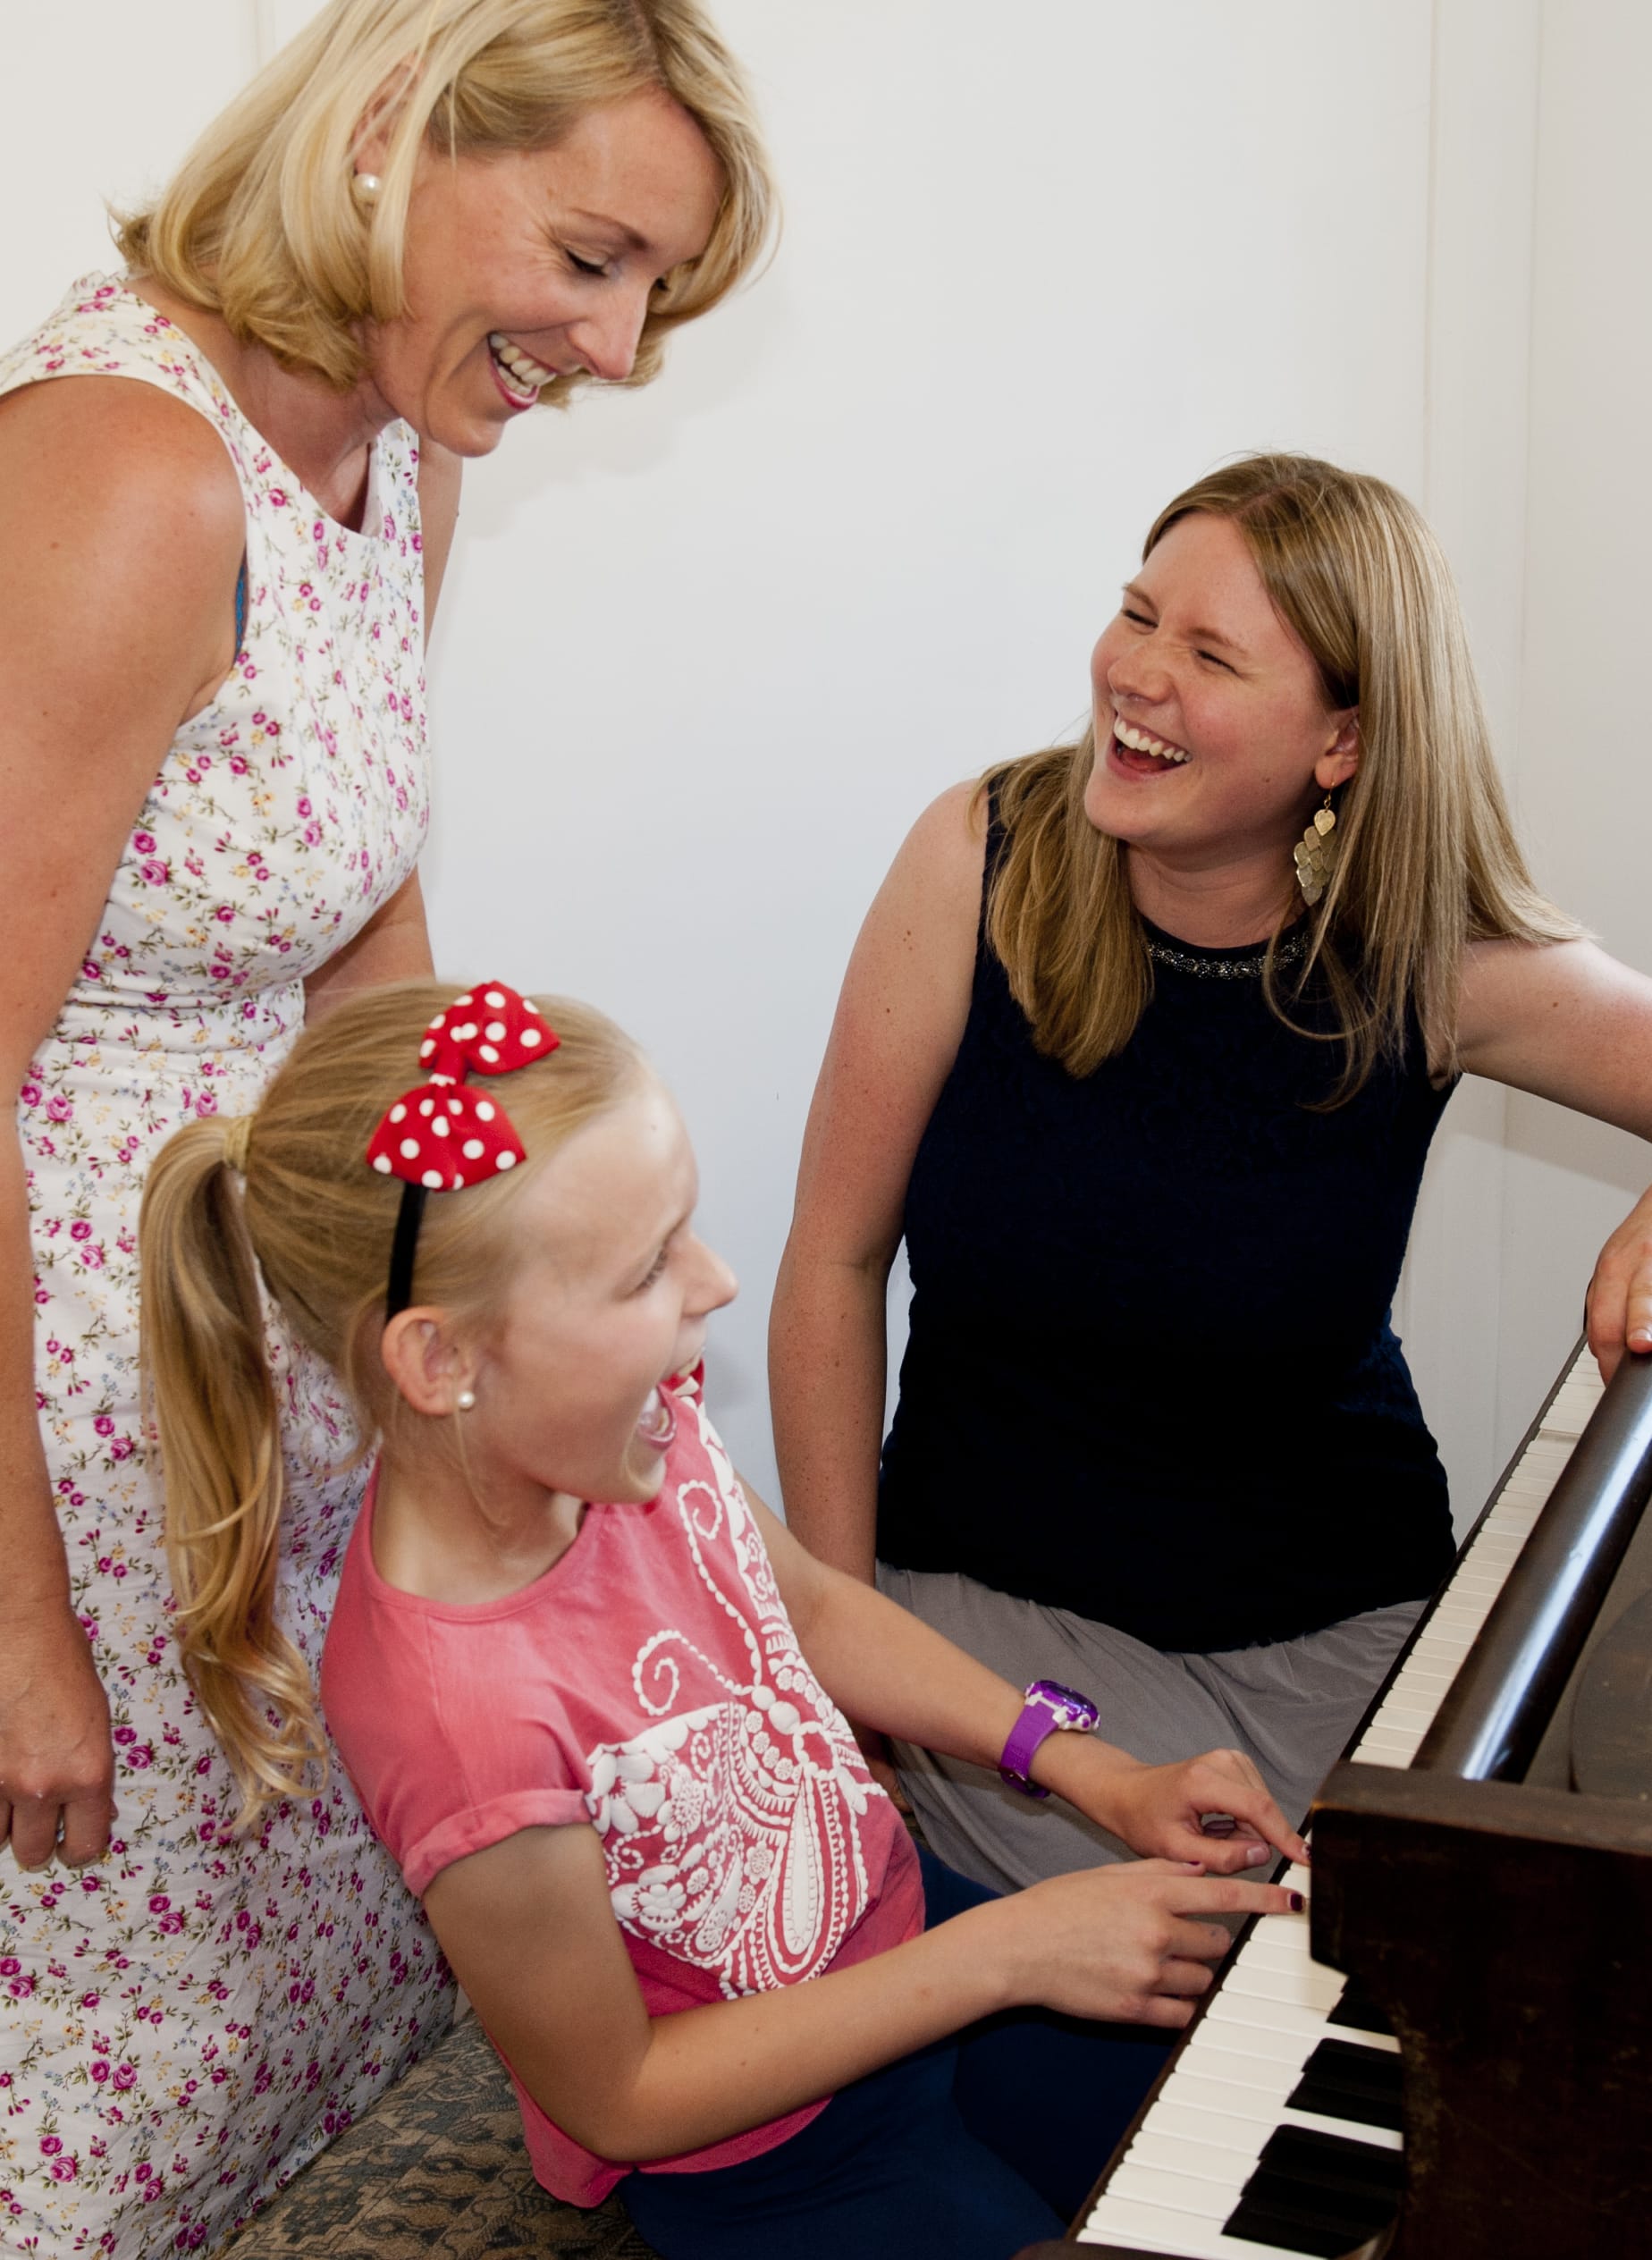
[[[1643,0],[1548,0],[1532,244],[1530,511],[1519,811],[1555,895],[1652,970],[1652,179]],[[1647,1177],[1647,1150],[1539,1098],[1510,1101],[1507,1433],[1575,1324],[1575,1250]]]

